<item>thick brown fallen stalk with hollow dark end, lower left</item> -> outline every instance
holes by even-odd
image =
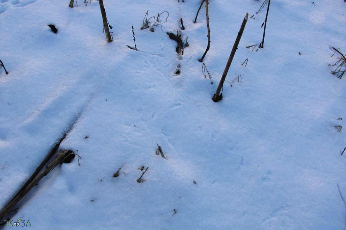
[[[60,162],[62,162],[72,151],[66,150],[62,153],[58,153],[57,156],[24,188],[20,194],[16,194],[15,197],[6,205],[0,212],[0,220],[13,209],[13,207],[52,169],[54,169]]]

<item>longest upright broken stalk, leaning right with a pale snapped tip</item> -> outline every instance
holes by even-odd
[[[225,70],[224,70],[224,73],[222,74],[222,77],[221,77],[221,80],[220,80],[220,83],[219,83],[219,86],[212,98],[212,100],[214,102],[218,102],[219,100],[222,99],[222,93],[221,95],[220,94],[220,91],[221,91],[221,88],[222,86],[224,85],[224,82],[225,82],[225,79],[226,79],[226,76],[227,76],[227,72],[228,72],[228,69],[232,63],[232,60],[233,60],[233,57],[234,57],[234,54],[236,53],[236,50],[238,49],[238,44],[239,44],[239,41],[240,41],[240,38],[242,38],[242,35],[243,35],[243,31],[244,31],[244,28],[245,28],[245,25],[246,25],[246,22],[247,22],[247,17],[249,16],[248,13],[246,13],[246,16],[244,17],[244,20],[243,20],[243,23],[242,23],[242,26],[240,27],[240,30],[238,32],[238,36],[236,38],[236,41],[234,42],[234,45],[233,45],[233,48],[232,48],[232,51],[231,51],[231,54],[229,55],[229,58],[228,58],[228,61],[227,61],[227,64],[226,64],[226,67],[225,67]]]

